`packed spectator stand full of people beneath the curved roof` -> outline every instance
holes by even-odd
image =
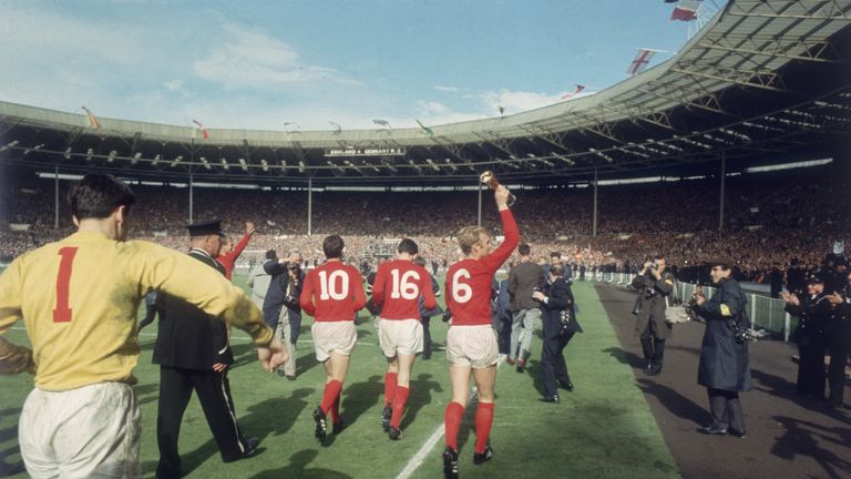
[[[725,232],[718,231],[717,179],[601,186],[598,228],[593,233],[593,187],[515,188],[514,206],[524,241],[537,252],[558,251],[589,271],[630,272],[664,252],[671,265],[689,274],[703,257],[730,256],[737,275],[768,282],[772,268],[786,271],[794,259],[814,272],[834,242],[851,233],[847,183],[822,169],[803,173],[763,173],[727,179]],[[807,181],[801,181],[807,177]],[[132,185],[131,235],[183,249],[189,191],[185,185]],[[69,234],[66,182],[60,183],[60,228],[54,230],[54,182],[19,180],[2,192],[0,259]],[[308,265],[320,262],[321,238],[346,237],[347,255],[358,263],[382,256],[383,240],[409,236],[429,263],[445,268],[457,258],[452,235],[458,224],[476,218],[475,191],[315,191],[311,235],[307,235],[307,192],[219,187],[193,188],[194,218],[222,218],[234,241],[244,223],[257,233],[249,251],[300,249]],[[482,223],[499,224],[496,211],[483,208]],[[499,233],[499,232],[498,232]],[[536,258],[541,259],[541,258]],[[238,266],[248,266],[246,255]]]

